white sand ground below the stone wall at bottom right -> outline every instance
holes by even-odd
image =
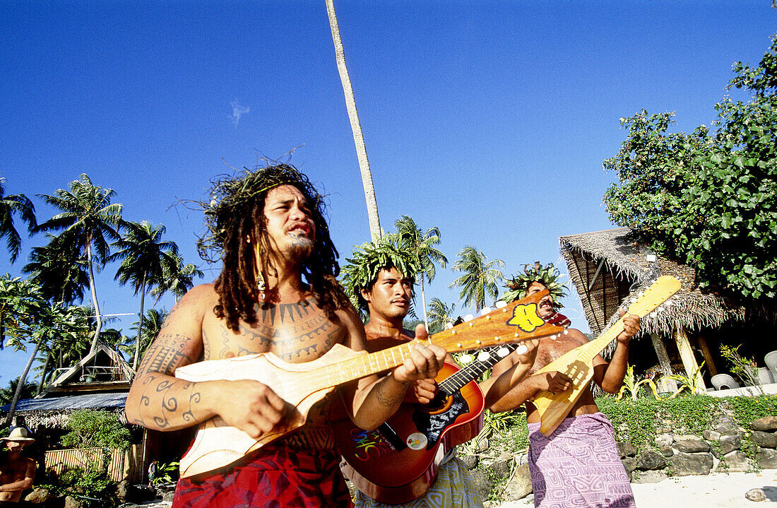
[[[760,487],[766,501],[754,503],[744,497],[750,489]],[[632,483],[639,508],[766,508],[777,506],[777,470],[760,473],[716,473],[706,476],[678,476],[658,483]],[[498,508],[534,506],[531,496],[509,501]]]

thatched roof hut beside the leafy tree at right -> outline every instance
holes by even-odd
[[[702,354],[714,375],[716,362],[705,339],[709,330],[751,322],[773,327],[777,322],[774,304],[734,301],[699,289],[695,270],[656,256],[636,240],[629,228],[562,236],[559,244],[591,332],[597,336],[617,320],[618,308],[627,308],[658,277],[671,275],[680,280],[680,291],[641,322],[642,334],[653,339],[664,371],[670,370],[669,362],[666,352],[660,351],[665,344],[658,338],[674,337],[687,375],[692,375],[699,365],[693,350]],[[688,343],[688,333],[692,334],[695,347]]]

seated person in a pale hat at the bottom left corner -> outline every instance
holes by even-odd
[[[23,427],[16,427],[9,437],[2,437],[7,451],[0,452],[0,506],[18,503],[22,492],[33,485],[35,461],[23,457],[22,450],[35,440]]]

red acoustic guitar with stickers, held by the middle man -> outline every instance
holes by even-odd
[[[423,496],[437,478],[451,447],[476,437],[483,428],[483,393],[476,379],[519,346],[490,347],[459,369],[445,364],[437,374],[440,392],[428,405],[403,404],[370,432],[350,420],[334,426],[343,473],[366,496],[385,504]]]

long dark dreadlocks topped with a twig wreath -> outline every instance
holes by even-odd
[[[336,280],[340,266],[324,218],[324,200],[307,176],[292,165],[279,164],[253,171],[246,169],[212,184],[211,202],[203,204],[207,233],[197,242],[197,249],[203,259],[211,262],[215,253],[221,254],[224,267],[214,284],[218,294],[214,313],[226,319],[228,329],[237,332],[241,320],[249,324],[256,322],[256,303],[260,296],[256,273],[266,277],[273,270],[266,247],[269,244],[264,202],[268,191],[282,185],[294,186],[305,196],[315,224],[315,245],[301,265],[301,274],[310,286],[315,303],[329,318],[337,309],[350,305]],[[246,238],[251,238],[251,242],[246,242]],[[259,266],[256,266],[257,258]]]

